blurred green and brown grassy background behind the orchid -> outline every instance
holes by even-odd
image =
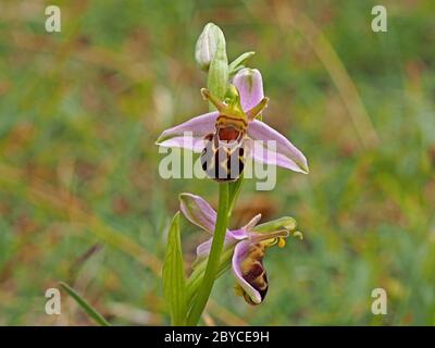
[[[62,32],[45,32],[59,4]],[[204,315],[224,325],[435,324],[435,2],[5,1],[0,3],[0,324],[94,324],[72,285],[113,324],[169,324],[165,229],[177,194],[216,203],[212,181],[158,174],[154,140],[207,110],[194,60],[203,25],[228,58],[254,50],[271,98],[264,121],[310,174],[248,181],[232,225],[291,215],[304,240],[264,260],[270,290],[250,307],[220,278]],[[186,271],[203,234],[183,219]],[[388,314],[371,313],[385,288]]]

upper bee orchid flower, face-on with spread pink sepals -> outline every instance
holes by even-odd
[[[236,163],[239,164],[237,169],[240,172],[241,156],[250,157],[259,163],[278,165],[307,174],[309,170],[303,153],[284,135],[258,120],[269,100],[264,98],[261,73],[246,67],[234,76],[232,83],[223,101],[208,89],[201,89],[202,96],[214,104],[217,111],[196,116],[164,130],[156,144],[162,147],[186,148],[194,152],[202,152],[202,156],[209,148],[216,151],[219,148],[227,147],[225,153],[228,159],[224,158],[225,163],[226,161],[229,163],[229,154],[234,152],[235,147],[232,145],[237,144],[236,154],[239,161]],[[204,164],[207,160],[210,158],[204,158],[202,167],[210,176],[210,172],[217,165],[210,169],[209,164]],[[214,158],[209,162],[212,165],[214,162],[217,163]],[[219,162],[222,163],[221,160]],[[237,178],[237,175],[224,176],[224,179],[228,181],[234,178]]]

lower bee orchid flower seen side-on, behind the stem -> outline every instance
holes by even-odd
[[[197,248],[194,268],[208,258],[213,239],[216,212],[199,196],[182,194],[181,211],[192,224],[210,234],[210,239]],[[226,229],[224,250],[234,250],[232,272],[236,279],[236,294],[241,295],[250,304],[259,304],[268,293],[268,275],[263,265],[265,250],[277,244],[285,246],[285,238],[295,229],[296,222],[291,217],[283,217],[276,222],[257,226],[261,219],[258,214],[248,224],[238,229]]]

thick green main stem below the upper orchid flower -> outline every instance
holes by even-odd
[[[213,241],[207,262],[206,273],[191,307],[187,325],[197,325],[213,288],[219,270],[221,253],[224,247],[226,226],[228,224],[228,184],[219,184],[219,209]]]

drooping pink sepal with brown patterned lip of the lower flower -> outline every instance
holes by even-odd
[[[268,276],[262,259],[264,247],[249,240],[236,245],[233,254],[233,274],[243,290],[245,300],[250,304],[259,304],[268,293]]]

